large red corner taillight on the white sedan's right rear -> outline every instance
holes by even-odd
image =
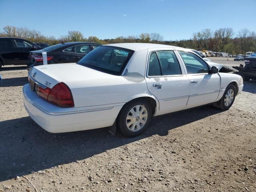
[[[56,84],[50,90],[47,101],[60,107],[74,107],[72,93],[63,82]]]

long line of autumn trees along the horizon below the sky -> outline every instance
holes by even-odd
[[[67,35],[55,38],[54,36],[44,36],[40,31],[30,30],[26,27],[4,26],[0,32],[0,37],[24,38],[31,42],[45,42],[50,45],[61,42],[95,42],[99,44],[142,42],[158,43],[196,50],[212,50],[214,52],[228,52],[230,54],[244,54],[245,52],[256,52],[256,33],[246,28],[237,33],[232,28],[220,28],[218,30],[203,29],[192,34],[188,40],[164,40],[159,33],[142,33],[138,36],[120,36],[112,39],[99,39],[96,36],[86,38],[82,32],[76,30],[68,31]]]

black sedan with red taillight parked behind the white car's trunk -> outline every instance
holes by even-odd
[[[31,51],[28,67],[43,64],[42,52],[46,52],[48,64],[76,63],[98,46],[101,45],[90,42],[68,42],[56,44],[42,50]]]

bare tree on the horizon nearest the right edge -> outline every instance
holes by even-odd
[[[250,51],[250,48],[253,46],[253,40],[255,37],[255,32],[248,29],[241,29],[238,32],[238,40],[242,52]]]

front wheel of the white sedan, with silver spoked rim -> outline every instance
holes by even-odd
[[[222,98],[216,104],[214,104],[214,106],[222,110],[228,110],[234,103],[235,98],[236,87],[230,84],[226,88]]]

